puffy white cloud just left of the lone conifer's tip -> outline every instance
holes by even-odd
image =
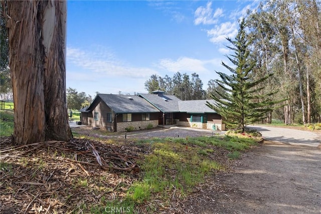
[[[226,38],[234,39],[238,32],[237,22],[226,22],[216,25],[215,28],[208,30],[207,35],[212,43],[226,42]]]

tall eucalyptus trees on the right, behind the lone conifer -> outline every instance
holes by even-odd
[[[274,73],[262,93],[286,99],[273,117],[286,124],[321,122],[321,10],[316,0],[272,0],[248,13],[254,78]],[[271,117],[272,115],[268,115]]]

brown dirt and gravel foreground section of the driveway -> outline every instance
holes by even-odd
[[[321,213],[321,150],[265,141],[208,183],[186,213]]]

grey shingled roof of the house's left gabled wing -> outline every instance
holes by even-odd
[[[96,103],[95,100],[98,100],[99,98],[115,113],[159,112],[157,108],[139,96],[119,94],[97,94],[94,101],[87,108],[87,111],[92,110]]]

